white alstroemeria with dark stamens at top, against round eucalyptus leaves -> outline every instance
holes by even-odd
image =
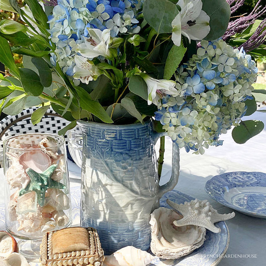
[[[210,32],[210,17],[202,10],[201,0],[179,0],[181,11],[172,21],[172,40],[176,46],[181,44],[181,34],[188,40],[202,40]]]

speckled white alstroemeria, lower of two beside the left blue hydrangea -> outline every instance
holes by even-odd
[[[76,65],[73,69],[73,78],[79,79],[82,83],[89,84],[93,80],[92,76],[95,75],[93,71],[94,64],[80,55],[75,55],[74,61]]]

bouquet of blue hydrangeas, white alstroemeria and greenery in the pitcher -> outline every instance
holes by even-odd
[[[21,18],[0,23],[0,61],[10,73],[0,77],[1,111],[42,104],[32,115],[37,123],[51,105],[71,121],[61,134],[80,119],[130,124],[155,115],[157,130],[187,151],[221,145],[220,134],[232,126],[242,143],[263,128],[241,122],[255,111],[257,72],[243,47],[258,56],[265,39],[264,32],[254,47],[265,26],[254,23],[265,12],[258,5],[228,27],[229,4],[235,12],[242,2],[27,0],[19,7],[1,1]],[[12,52],[23,55],[24,68]]]

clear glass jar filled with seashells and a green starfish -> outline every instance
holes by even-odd
[[[19,252],[39,257],[45,232],[72,223],[64,137],[31,133],[4,141],[6,229]]]

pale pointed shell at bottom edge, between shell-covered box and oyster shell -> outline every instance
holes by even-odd
[[[139,248],[127,246],[105,256],[104,266],[146,266],[155,258]]]

